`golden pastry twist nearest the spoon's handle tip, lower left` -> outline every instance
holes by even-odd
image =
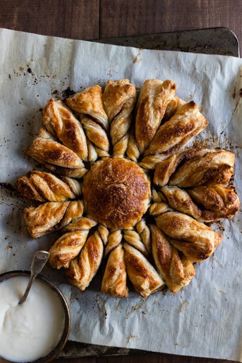
[[[70,223],[50,248],[48,263],[54,269],[65,268],[70,265],[70,261],[79,255],[84,246],[89,230],[96,225],[95,221],[86,217]]]

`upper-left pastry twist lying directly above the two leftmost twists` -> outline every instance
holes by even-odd
[[[57,174],[82,178],[87,173],[79,156],[57,142],[45,129],[40,129],[27,154]]]

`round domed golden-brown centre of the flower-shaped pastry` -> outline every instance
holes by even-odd
[[[150,181],[133,161],[104,158],[85,175],[83,196],[92,219],[108,228],[130,228],[148,209]]]

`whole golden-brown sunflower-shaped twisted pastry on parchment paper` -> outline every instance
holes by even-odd
[[[49,171],[17,188],[40,203],[23,210],[29,234],[59,231],[49,264],[81,291],[102,270],[103,294],[127,298],[130,283],[143,298],[165,285],[177,293],[222,243],[205,223],[239,210],[234,153],[185,148],[208,120],[176,89],[110,80],[47,101],[27,154]]]

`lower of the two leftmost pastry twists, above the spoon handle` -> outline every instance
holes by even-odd
[[[23,218],[32,238],[54,232],[82,216],[83,201],[47,202],[23,209]]]

